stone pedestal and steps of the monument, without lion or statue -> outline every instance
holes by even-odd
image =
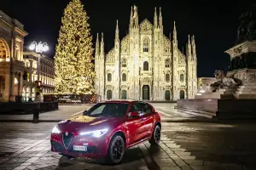
[[[195,99],[179,99],[178,110],[207,117],[256,118],[256,41],[242,42],[226,53],[231,57],[226,81],[234,77],[241,85],[227,85],[218,92],[195,95]]]

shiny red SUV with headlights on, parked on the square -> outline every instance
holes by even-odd
[[[149,140],[160,142],[160,114],[141,101],[106,101],[59,122],[51,133],[51,150],[63,156],[106,157],[119,163],[125,150]]]

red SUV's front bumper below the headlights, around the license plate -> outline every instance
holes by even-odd
[[[73,134],[70,144],[65,147],[62,135],[51,134],[50,144],[51,151],[58,152],[65,156],[84,156],[84,157],[100,157],[108,154],[108,136],[100,138],[84,137]],[[86,151],[73,150],[73,145],[86,146]]]

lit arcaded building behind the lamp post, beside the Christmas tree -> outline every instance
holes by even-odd
[[[36,83],[38,80],[38,58],[39,61],[39,80],[42,82],[41,91],[42,97],[44,94],[53,94],[54,92],[54,59],[51,59],[44,54],[37,54],[35,52],[24,52],[24,63],[25,63],[25,71],[24,71],[24,81],[23,81],[23,91],[22,97],[23,101],[28,101],[30,98],[32,100],[35,99],[36,94]]]

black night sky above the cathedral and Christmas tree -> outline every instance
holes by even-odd
[[[70,0],[1,0],[0,10],[19,20],[29,35],[26,47],[32,42],[48,42],[48,55],[55,55],[55,44],[61,27],[64,8]],[[169,37],[173,21],[177,23],[179,49],[195,35],[198,58],[198,77],[213,77],[216,69],[228,69],[230,57],[224,51],[236,42],[240,14],[255,0],[247,1],[112,1],[82,0],[90,16],[91,33],[104,32],[106,52],[113,47],[116,20],[119,20],[120,37],[128,31],[131,5],[138,7],[139,21],[145,18],[153,23],[154,7],[162,7],[164,33]],[[115,3],[119,2],[119,3]],[[185,47],[185,46],[184,46]],[[185,49],[185,48],[184,48]]]

